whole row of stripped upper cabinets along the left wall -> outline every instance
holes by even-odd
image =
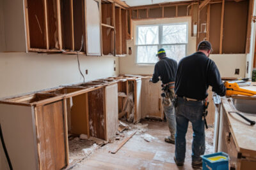
[[[126,54],[126,8],[118,0],[1,0],[0,52]]]

